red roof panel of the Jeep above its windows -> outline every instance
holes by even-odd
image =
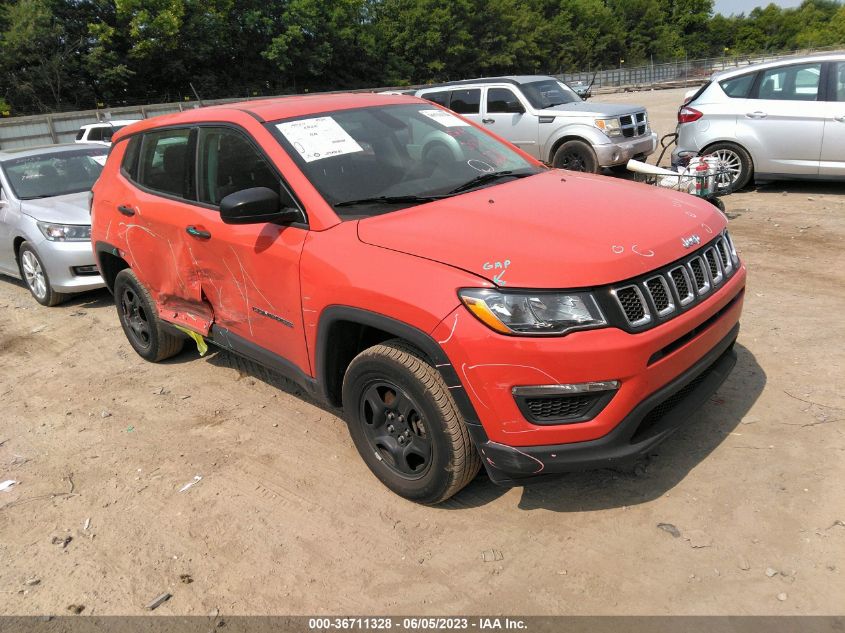
[[[244,116],[252,117],[264,123],[337,110],[351,110],[353,108],[365,108],[369,106],[407,105],[410,103],[431,105],[427,101],[410,95],[390,95],[375,92],[338,92],[238,101],[235,103],[209,106],[207,108],[191,108],[183,112],[144,119],[119,130],[112,137],[112,141],[118,142],[137,132],[165,125],[237,120],[238,117]]]

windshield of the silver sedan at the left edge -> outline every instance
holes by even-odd
[[[23,156],[3,161],[3,171],[19,200],[52,198],[88,191],[100,176],[108,148],[86,148]]]

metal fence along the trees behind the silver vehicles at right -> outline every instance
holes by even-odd
[[[712,57],[704,59],[683,59],[665,64],[649,64],[646,66],[609,68],[599,71],[582,70],[574,73],[556,75],[561,81],[573,83],[576,81],[593,84],[594,91],[611,89],[649,89],[655,87],[686,86],[706,82],[710,75],[721,70],[739,68],[750,64],[774,61],[792,55],[807,55],[841,50],[841,47],[814,48],[780,53],[759,55],[736,55]]]

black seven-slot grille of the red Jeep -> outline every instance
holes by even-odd
[[[673,267],[611,290],[628,325],[668,319],[702,299],[731,276],[736,266],[727,232]]]

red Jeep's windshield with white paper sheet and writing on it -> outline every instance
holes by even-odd
[[[269,127],[342,219],[395,211],[544,169],[430,104],[341,110]]]

